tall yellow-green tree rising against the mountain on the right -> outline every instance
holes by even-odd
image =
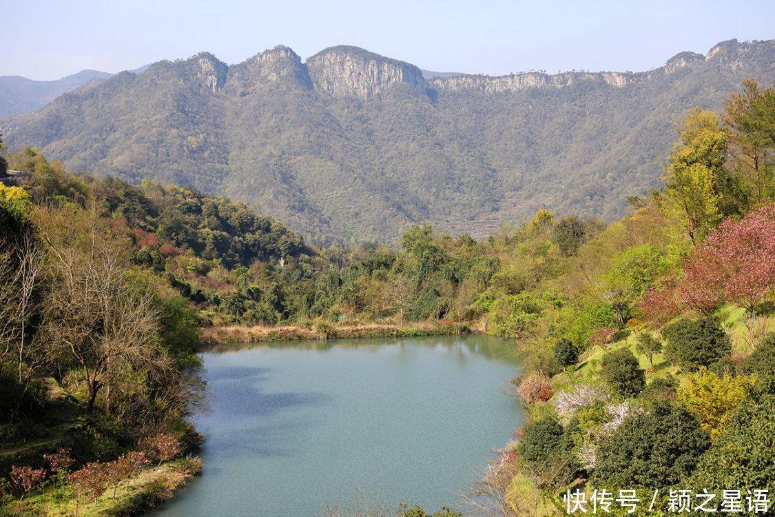
[[[732,188],[724,170],[727,133],[714,112],[699,107],[684,116],[676,129],[680,140],[670,153],[665,194],[670,209],[684,219],[687,234],[697,245],[731,213],[725,206]]]

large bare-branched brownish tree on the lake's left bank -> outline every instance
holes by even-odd
[[[110,390],[119,388],[122,378],[132,377],[129,372],[164,377],[173,364],[159,346],[153,296],[127,276],[128,253],[121,238],[94,212],[71,214],[74,221],[82,233],[71,233],[67,240],[44,233],[55,257],[45,330],[53,355],[81,371],[87,411],[95,408],[97,395],[106,388],[103,409],[109,413]]]

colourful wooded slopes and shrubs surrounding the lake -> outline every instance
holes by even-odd
[[[498,515],[549,515],[571,488],[657,489],[663,509],[670,488],[775,493],[775,89],[747,80],[677,131],[665,188],[617,222],[539,209],[478,241],[412,226],[399,250],[5,153],[26,172],[0,184],[2,511],[112,507],[150,460],[178,465],[199,326],[227,324],[515,338],[529,423],[472,498]]]

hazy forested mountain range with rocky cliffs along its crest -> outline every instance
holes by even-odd
[[[425,222],[483,236],[544,207],[618,218],[660,184],[673,121],[746,77],[775,79],[775,41],[639,73],[436,78],[356,47],[276,47],[123,72],[5,134],[75,170],[228,195],[317,243]]]

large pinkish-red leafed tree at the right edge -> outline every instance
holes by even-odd
[[[678,285],[691,308],[712,312],[725,300],[754,312],[775,291],[775,202],[742,221],[727,219],[684,263]]]

